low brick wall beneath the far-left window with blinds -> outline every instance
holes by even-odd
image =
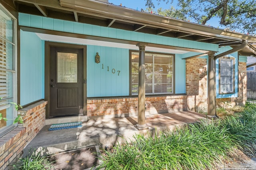
[[[18,111],[24,124],[0,138],[0,170],[9,169],[23,154],[24,147],[36,136],[45,124],[46,101],[40,101]]]

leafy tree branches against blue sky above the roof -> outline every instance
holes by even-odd
[[[237,32],[256,33],[256,1],[255,0],[178,0],[173,6],[173,0],[156,0],[169,3],[169,9],[158,9],[159,15],[192,20],[204,25],[217,18],[219,25],[229,27]],[[146,0],[146,6],[154,8],[152,0]]]

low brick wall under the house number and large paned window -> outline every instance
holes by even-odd
[[[146,97],[146,115],[186,110],[186,95]],[[138,97],[87,99],[87,116],[136,114]]]

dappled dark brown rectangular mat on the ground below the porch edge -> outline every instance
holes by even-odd
[[[97,145],[82,149],[69,150],[50,155],[50,161],[56,170],[84,170],[99,164]]]

